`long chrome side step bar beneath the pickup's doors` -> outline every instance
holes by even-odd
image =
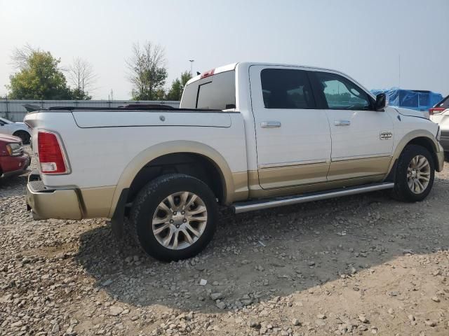
[[[326,190],[319,193],[304,193],[301,195],[276,197],[268,200],[256,200],[249,202],[239,202],[232,206],[235,214],[242,212],[269,209],[274,207],[282,207],[283,205],[299,204],[305,202],[327,200],[328,198],[356,195],[361,193],[369,193],[376,190],[391,189],[394,187],[392,182],[372,183],[366,186],[348,187],[342,189]]]

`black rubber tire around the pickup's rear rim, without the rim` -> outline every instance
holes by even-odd
[[[193,244],[182,249],[163,246],[152,230],[152,219],[159,204],[169,195],[187,191],[198,195],[207,211],[206,227],[202,235]],[[130,212],[131,233],[142,249],[161,261],[173,261],[191,258],[207,246],[213,238],[218,218],[215,195],[203,181],[185,174],[167,174],[159,176],[140,190]]]

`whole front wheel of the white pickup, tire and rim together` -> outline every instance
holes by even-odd
[[[422,146],[408,145],[398,159],[394,197],[406,202],[422,201],[429,195],[434,178],[431,153]]]

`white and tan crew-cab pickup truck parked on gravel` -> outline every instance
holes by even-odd
[[[237,63],[187,83],[180,109],[29,113],[35,219],[128,218],[160,260],[199,253],[218,204],[236,213],[391,189],[423,200],[443,169],[438,125],[386,106],[354,79],[307,66]]]

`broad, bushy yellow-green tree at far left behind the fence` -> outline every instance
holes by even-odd
[[[24,50],[16,50],[13,55],[13,64],[19,71],[9,78],[8,98],[71,99],[64,73],[58,67],[60,59],[29,46]]]

